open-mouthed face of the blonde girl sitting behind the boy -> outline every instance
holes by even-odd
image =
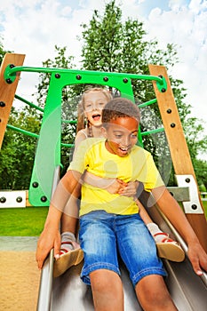
[[[107,101],[107,97],[101,91],[92,91],[84,95],[84,114],[93,126],[102,124],[102,110]]]

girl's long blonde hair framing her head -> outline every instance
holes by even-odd
[[[88,137],[92,137],[92,127],[88,120],[85,122],[85,116],[84,116],[84,96],[85,94],[88,94],[89,92],[102,92],[107,101],[112,100],[111,92],[109,92],[107,89],[101,88],[101,87],[92,87],[84,91],[82,98],[77,106],[77,127],[76,132],[79,132],[80,130],[85,129],[85,126],[87,127],[87,134]]]

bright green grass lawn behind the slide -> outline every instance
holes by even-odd
[[[207,201],[203,201],[207,218]],[[0,235],[38,236],[44,228],[47,207],[0,209]]]

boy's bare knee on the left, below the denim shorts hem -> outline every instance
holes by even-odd
[[[90,274],[96,311],[123,311],[123,284],[114,271],[100,269]]]

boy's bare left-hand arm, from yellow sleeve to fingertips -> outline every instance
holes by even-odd
[[[48,215],[45,220],[44,230],[39,237],[36,248],[36,262],[39,268],[44,265],[44,260],[54,248],[54,257],[60,257],[60,218],[64,207],[71,194],[76,189],[82,174],[78,171],[67,171],[52,195]]]

